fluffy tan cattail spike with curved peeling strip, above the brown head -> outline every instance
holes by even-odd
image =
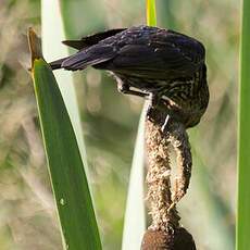
[[[165,109],[166,110],[166,109]],[[170,117],[166,120],[166,116]],[[185,196],[191,176],[191,151],[186,127],[166,112],[149,108],[146,121],[146,145],[149,168],[148,200],[152,214],[152,229],[178,227],[176,203]],[[168,153],[174,149],[177,176],[173,179]],[[171,183],[173,180],[173,185]]]

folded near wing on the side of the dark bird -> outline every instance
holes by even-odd
[[[148,78],[192,76],[204,63],[204,48],[196,40],[165,39],[126,45],[111,61],[96,65],[116,73]]]

